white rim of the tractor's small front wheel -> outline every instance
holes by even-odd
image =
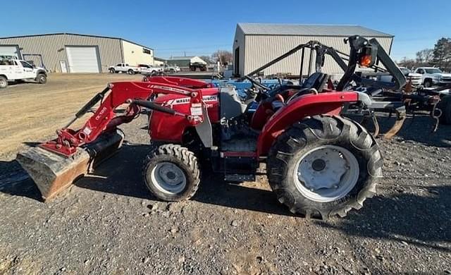
[[[186,186],[185,173],[172,162],[160,162],[151,172],[152,183],[163,193],[175,195]]]

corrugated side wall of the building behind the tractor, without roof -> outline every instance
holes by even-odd
[[[343,39],[345,37],[315,37],[315,36],[287,36],[287,35],[246,35],[245,36],[245,53],[244,62],[240,63],[240,75],[245,75],[265,63],[276,59],[276,57],[285,54],[299,44],[304,44],[310,40],[316,40],[329,47],[338,49],[339,51],[349,54],[349,44],[345,44]],[[373,37],[366,37],[373,38]],[[382,45],[385,51],[390,52],[391,37],[376,37],[378,42]],[[240,44],[235,42],[234,44]],[[234,47],[235,49],[235,47]],[[306,49],[304,57],[304,75],[308,73],[309,67],[309,53]],[[276,73],[291,73],[292,75],[299,75],[301,51],[296,54],[274,64],[273,66],[264,70],[265,75],[271,75]],[[314,68],[315,56],[312,56],[312,71]],[[242,59],[242,56],[240,56]],[[323,73],[330,75],[341,75],[343,72],[340,67],[333,61],[330,56],[326,56],[326,61],[323,67]]]

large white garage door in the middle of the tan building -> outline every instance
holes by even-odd
[[[66,47],[70,73],[99,73],[97,47]]]

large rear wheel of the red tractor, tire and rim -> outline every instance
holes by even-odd
[[[360,209],[376,193],[382,157],[358,123],[338,116],[304,118],[268,154],[268,181],[291,212],[328,219]]]

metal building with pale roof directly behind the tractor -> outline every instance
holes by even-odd
[[[350,52],[348,44],[343,39],[352,35],[362,35],[366,38],[376,38],[385,51],[390,54],[393,35],[371,30],[357,25],[295,25],[295,24],[260,24],[238,23],[233,41],[233,63],[236,75],[246,75],[265,63],[285,54],[290,49],[316,40],[329,47],[334,47],[345,53]],[[310,51],[305,51],[304,71],[307,75]],[[312,56],[314,62],[315,56]],[[301,51],[264,70],[265,75],[291,74],[299,75]],[[311,66],[314,69],[314,65]],[[340,75],[342,70],[326,56],[323,72],[330,75]]]

